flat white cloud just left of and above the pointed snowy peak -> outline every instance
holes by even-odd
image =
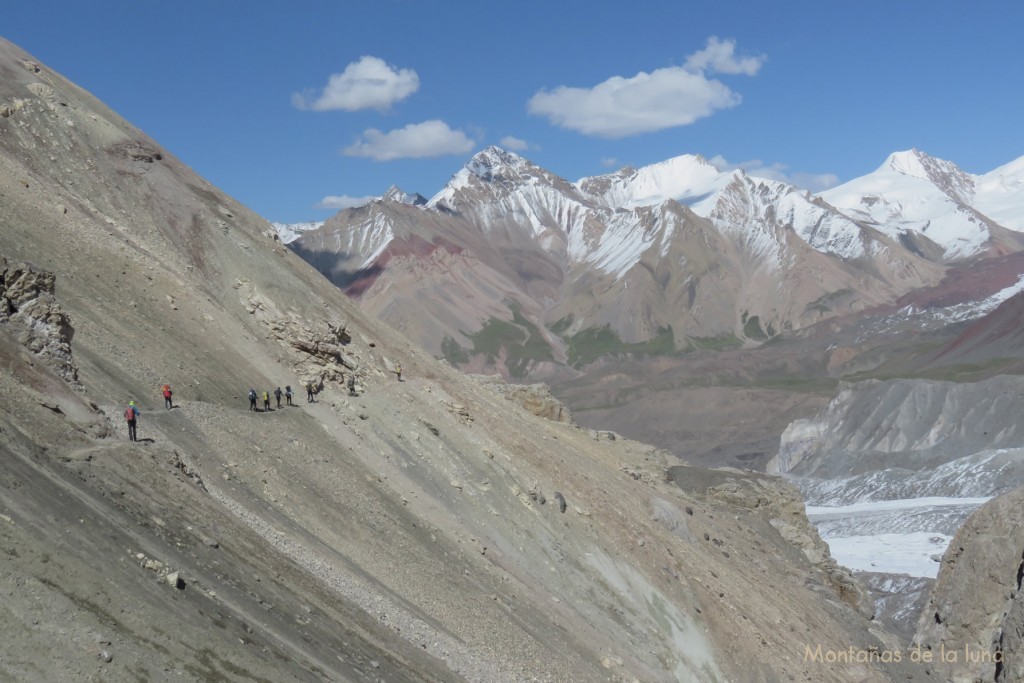
[[[367,157],[374,161],[423,159],[464,155],[476,142],[461,130],[452,130],[443,121],[424,121],[382,133],[376,128],[362,131],[361,139],[342,150],[346,157]]]

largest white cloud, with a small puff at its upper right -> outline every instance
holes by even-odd
[[[530,114],[553,124],[599,137],[627,137],[687,126],[714,112],[735,106],[740,96],[705,71],[757,73],[764,57],[734,56],[735,43],[710,38],[708,47],[687,58],[684,67],[613,76],[592,88],[558,86],[537,92],[526,104]]]

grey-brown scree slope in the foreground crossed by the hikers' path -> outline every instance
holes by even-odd
[[[788,484],[534,415],[3,41],[0,76],[0,677],[924,676]]]

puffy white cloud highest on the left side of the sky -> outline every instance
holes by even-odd
[[[380,57],[362,56],[332,74],[318,93],[307,90],[292,95],[292,103],[300,110],[327,112],[344,110],[378,110],[386,112],[395,102],[420,88],[420,77],[411,69],[398,70]]]

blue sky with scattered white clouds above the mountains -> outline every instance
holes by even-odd
[[[33,0],[4,38],[269,220],[489,144],[568,180],[700,154],[821,189],[1024,155],[1024,3]]]

